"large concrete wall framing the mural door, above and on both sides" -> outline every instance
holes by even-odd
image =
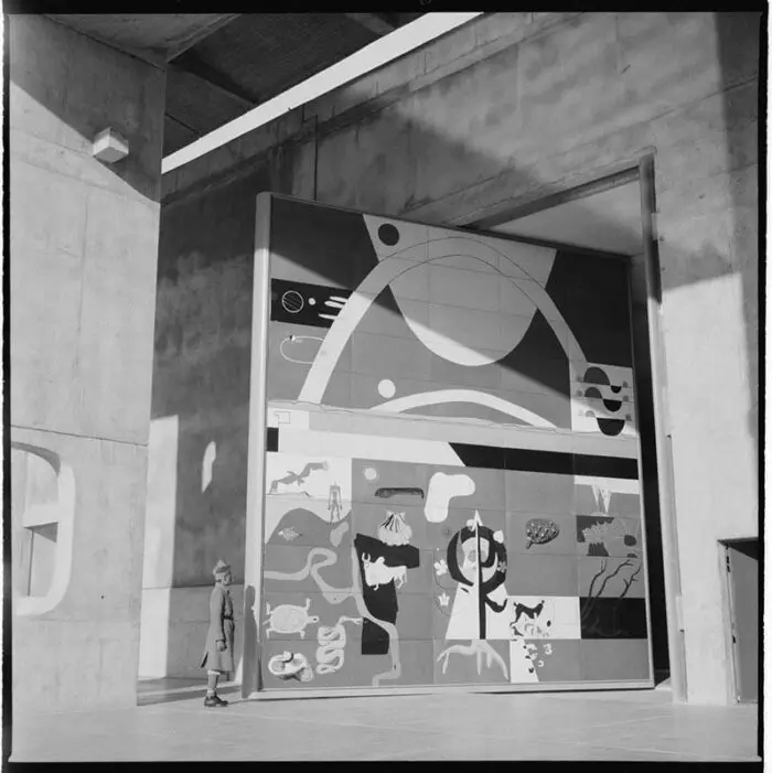
[[[250,291],[251,197],[260,190],[463,225],[654,151],[696,702],[729,696],[717,540],[758,534],[759,21],[755,13],[491,14],[164,178],[159,288],[203,298],[239,266],[243,290],[225,282],[233,299]],[[187,350],[199,353],[196,369],[169,348],[164,331],[191,341],[200,322],[162,297],[153,416],[238,437],[229,428],[243,426],[246,410],[248,311],[236,320],[238,304],[221,308],[208,335]],[[218,359],[226,331],[244,342],[227,350],[227,377]],[[218,380],[227,383],[222,394]],[[228,474],[239,486],[222,502],[235,534],[246,447],[232,448]],[[237,541],[215,549],[214,520],[191,519],[179,501],[175,516],[178,537],[194,530],[193,541],[210,545],[194,566],[183,568],[183,554],[180,581],[208,571],[217,550],[235,560]]]

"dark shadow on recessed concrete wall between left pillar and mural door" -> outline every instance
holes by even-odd
[[[267,174],[258,173],[254,181],[259,190],[269,184]],[[192,206],[171,208],[161,224],[152,418],[179,417],[173,587],[208,584],[221,557],[232,565],[234,582],[244,581],[255,222],[250,187],[237,183]],[[204,489],[204,454],[211,443],[216,453]]]

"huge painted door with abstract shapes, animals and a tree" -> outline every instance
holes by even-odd
[[[652,686],[625,261],[258,207],[260,689]]]

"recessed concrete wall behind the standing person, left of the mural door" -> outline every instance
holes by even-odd
[[[176,423],[150,450],[150,465],[158,460],[173,469],[151,470],[169,480],[149,486],[150,496],[167,493],[149,501],[146,534],[164,536],[159,545],[146,543],[153,555],[149,565],[146,556],[143,586],[171,587],[162,613],[168,676],[203,674],[197,666],[219,558],[233,567],[240,661],[236,593],[245,560],[255,196],[288,190],[285,158],[269,153],[247,178],[167,207],[161,222],[151,421],[176,417]],[[172,517],[170,508],[173,524],[161,523]]]

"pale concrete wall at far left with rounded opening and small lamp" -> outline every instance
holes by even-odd
[[[56,598],[13,599],[14,708],[132,705],[165,75],[40,15],[9,30],[11,441],[58,473]],[[107,126],[131,146],[112,167]]]

